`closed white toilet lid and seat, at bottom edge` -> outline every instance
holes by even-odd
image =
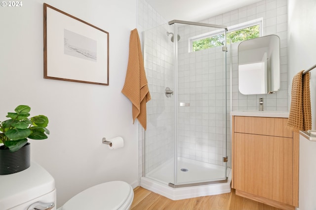
[[[124,181],[110,181],[83,190],[69,201],[62,210],[119,210],[131,203],[132,187]]]

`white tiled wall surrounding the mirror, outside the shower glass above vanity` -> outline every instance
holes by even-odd
[[[232,53],[232,110],[259,110],[258,100],[263,97],[265,110],[288,111],[287,0],[262,0],[201,22],[234,26],[258,18],[263,19],[263,35],[276,34],[280,38],[280,90],[262,95],[243,95],[238,91],[239,43],[235,43],[232,48],[228,46],[228,56]]]

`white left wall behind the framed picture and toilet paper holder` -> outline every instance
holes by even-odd
[[[109,32],[109,86],[43,79],[43,2],[0,9],[0,120],[19,104],[49,118],[49,138],[30,141],[31,159],[55,178],[58,207],[97,183],[124,180],[137,186],[137,124],[120,92],[130,30],[137,27],[137,1],[45,0]],[[124,148],[102,144],[103,137],[118,135]]]

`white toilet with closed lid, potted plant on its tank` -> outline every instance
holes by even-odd
[[[0,175],[0,186],[0,210],[56,210],[55,180],[33,161],[24,171]],[[109,181],[83,190],[58,210],[129,210],[133,198],[131,185]]]

